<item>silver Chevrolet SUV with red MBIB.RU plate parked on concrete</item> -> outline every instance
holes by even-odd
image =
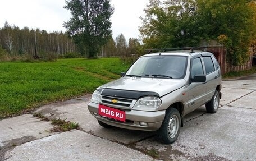
[[[99,125],[157,131],[159,141],[175,142],[183,117],[205,104],[216,113],[221,70],[214,55],[172,51],[139,57],[121,78],[97,88],[88,104]]]

